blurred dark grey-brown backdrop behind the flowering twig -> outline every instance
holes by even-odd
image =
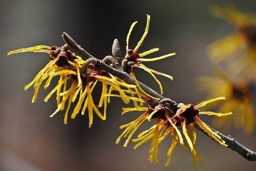
[[[256,1],[234,0],[242,12],[255,12]],[[121,134],[119,125],[128,123],[140,114],[127,113],[121,117],[120,99],[112,98],[108,106],[107,120],[94,117],[88,128],[88,116],[78,115],[75,120],[63,124],[64,111],[54,118],[55,97],[43,101],[52,87],[41,88],[38,99],[31,103],[33,89],[24,91],[24,85],[49,61],[45,53],[20,53],[7,58],[13,49],[35,45],[62,46],[63,31],[93,56],[102,59],[111,54],[112,42],[118,38],[122,54],[130,25],[134,28],[130,47],[141,38],[146,24],[146,14],[151,15],[149,34],[140,52],[159,47],[151,57],[170,52],[177,55],[153,63],[149,68],[174,76],[174,82],[159,76],[164,87],[164,96],[183,103],[197,103],[207,95],[195,88],[198,76],[212,73],[212,64],[205,53],[210,42],[232,33],[235,29],[208,12],[211,4],[223,5],[224,1],[78,1],[68,0],[1,0],[0,2],[0,170],[254,170],[256,163],[245,160],[228,148],[213,142],[198,132],[197,149],[204,161],[204,168],[196,163],[192,168],[189,150],[178,147],[169,167],[164,164],[171,139],[159,146],[159,163],[147,160],[150,143],[133,150],[115,144]],[[155,55],[155,56],[154,56]],[[147,73],[136,70],[138,80],[159,92],[158,85]],[[98,101],[100,88],[94,91]],[[211,124],[211,117],[203,117]],[[153,123],[146,122],[140,130]],[[256,150],[256,136],[245,136],[242,130],[230,132],[246,147]]]

